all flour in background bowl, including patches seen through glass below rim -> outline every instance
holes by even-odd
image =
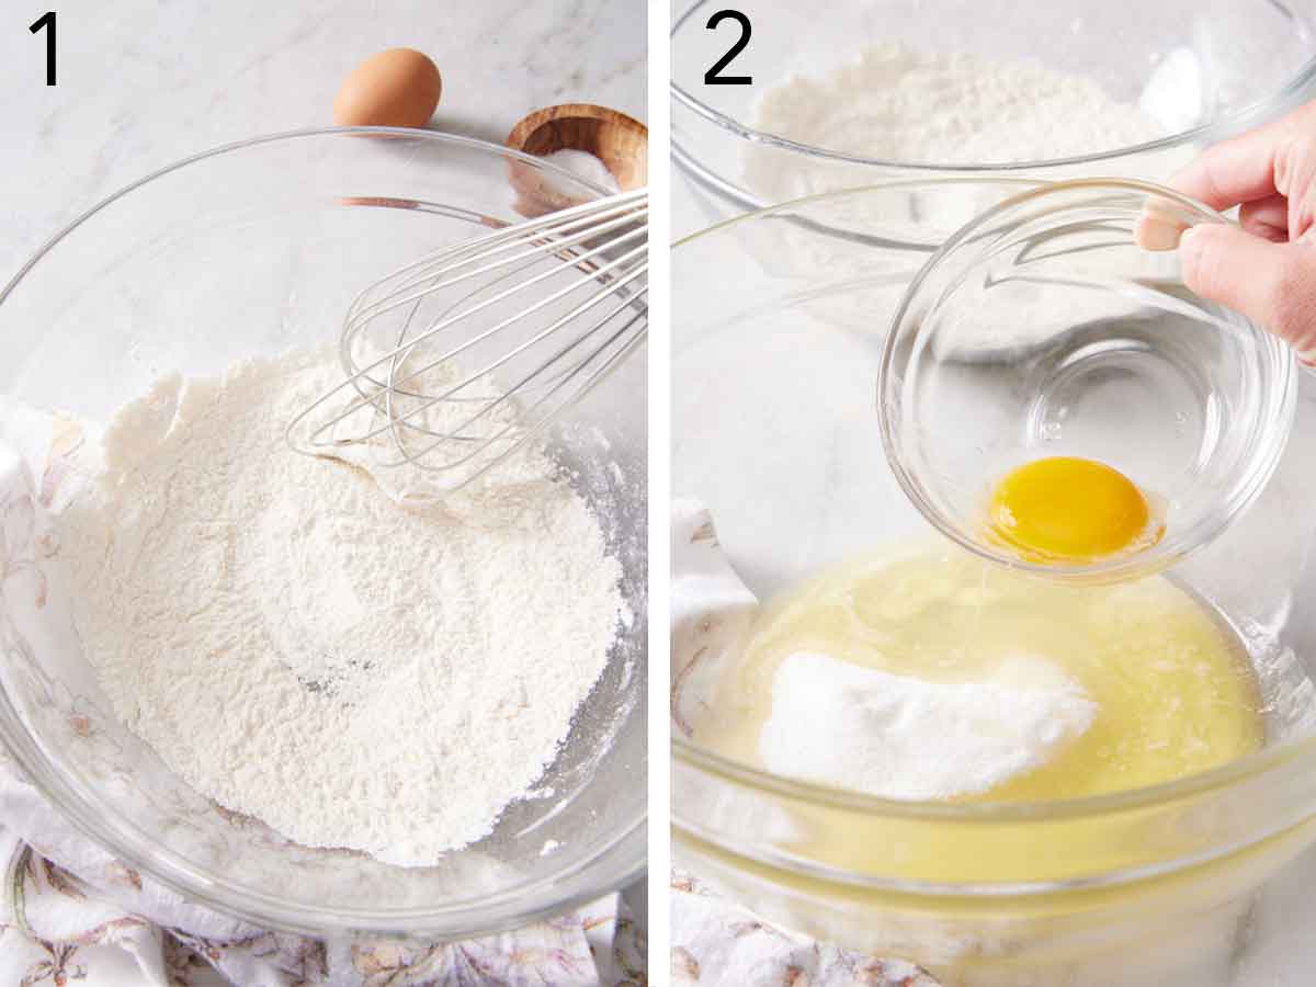
[[[1157,91],[1159,92],[1159,91]],[[1163,100],[1162,100],[1163,101]],[[966,53],[917,51],[899,43],[878,45],[857,61],[828,75],[794,75],[769,89],[758,103],[754,126],[759,130],[832,151],[888,162],[921,164],[984,164],[1044,162],[1109,151],[1155,139],[1166,126],[1132,103],[1115,100],[1094,80],[1058,72],[1037,62],[994,61]],[[1182,121],[1179,121],[1182,124]],[[1191,147],[1142,159],[1138,178],[1157,178],[1148,168],[1162,168],[1169,178],[1177,164],[1192,155]],[[1069,176],[1121,174],[1128,162],[1094,162]],[[783,154],[751,146],[745,157],[746,186],[769,201],[857,188],[900,178],[870,166],[845,164]],[[909,178],[909,174],[904,174]],[[1053,178],[1061,175],[1051,172]],[[982,211],[1013,195],[1013,186],[942,186],[934,191],[886,192],[857,196],[846,203],[848,225],[890,236],[937,243]],[[790,241],[787,241],[790,243]],[[845,263],[855,263],[853,250],[836,247],[816,236],[779,245],[791,250],[792,263],[826,270],[836,275]],[[829,254],[829,250],[832,251]],[[833,255],[838,254],[838,255]],[[912,275],[923,254],[907,255]],[[863,263],[874,263],[871,257]],[[1096,263],[1096,262],[1094,262]],[[1174,257],[1157,263],[1174,272]],[[1148,274],[1144,268],[1140,274]],[[874,322],[884,325],[904,293],[903,278],[887,287],[866,283],[862,293],[848,292],[815,303],[830,318],[862,332]],[[1037,295],[1026,317],[1012,286],[1012,300],[974,313],[953,349],[957,355],[999,357],[1017,347],[1037,345],[1076,320],[1067,301],[1053,292]],[[984,300],[996,301],[991,292]],[[1126,308],[1126,307],[1125,307]],[[1098,315],[1094,313],[1094,317]],[[945,340],[937,342],[945,355]]]

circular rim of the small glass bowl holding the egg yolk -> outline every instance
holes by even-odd
[[[1249,465],[1250,468],[1244,475],[1244,482],[1230,488],[1229,501],[1224,505],[1224,509],[1219,516],[1213,516],[1209,520],[1203,519],[1196,522],[1194,540],[1186,545],[1177,542],[1173,538],[1161,538],[1155,545],[1133,554],[1112,555],[1105,559],[1091,559],[1079,565],[1055,566],[1045,562],[1029,561],[1021,555],[1011,553],[1008,549],[991,549],[982,541],[969,536],[965,532],[963,525],[955,524],[951,517],[946,516],[944,511],[930,503],[930,497],[924,492],[924,484],[919,480],[909,463],[907,463],[900,454],[900,446],[903,443],[899,440],[899,428],[891,418],[891,405],[894,401],[892,386],[895,380],[894,362],[896,359],[896,350],[899,349],[899,345],[909,338],[908,333],[904,332],[905,316],[909,312],[909,307],[919,296],[924,283],[933,274],[933,271],[937,270],[941,262],[950,257],[959,246],[974,240],[978,232],[990,226],[994,220],[1034,200],[1083,190],[1092,192],[1128,192],[1146,199],[1163,199],[1182,207],[1200,222],[1221,222],[1233,225],[1228,217],[1223,216],[1216,209],[1191,199],[1190,196],[1177,192],[1173,188],[1166,188],[1163,186],[1138,179],[1079,178],[1065,182],[1044,183],[1034,188],[1023,191],[1019,195],[1011,196],[1009,199],[1005,199],[1004,201],[1000,201],[996,205],[978,213],[969,220],[969,222],[946,237],[937,251],[928,258],[923,268],[909,280],[909,286],[905,288],[904,296],[901,297],[900,304],[896,305],[895,315],[891,317],[887,336],[883,341],[882,362],[878,368],[876,382],[878,425],[882,432],[882,449],[886,453],[887,465],[890,466],[896,483],[900,484],[900,488],[924,516],[924,520],[932,524],[933,528],[941,532],[941,534],[946,538],[950,538],[962,549],[978,555],[982,559],[1008,566],[1009,569],[1015,569],[1020,572],[1028,572],[1030,575],[1049,579],[1061,579],[1071,583],[1111,582],[1115,579],[1133,579],[1150,575],[1194,555],[1220,537],[1220,534],[1224,533],[1224,530],[1236,517],[1238,517],[1238,515],[1255,503],[1257,497],[1274,475],[1288,442],[1294,411],[1298,401],[1298,359],[1294,355],[1292,349],[1282,343],[1277,337],[1253,325],[1250,320],[1244,318],[1244,324],[1254,330],[1261,347],[1265,350],[1263,355],[1267,359],[1262,366],[1271,368],[1277,374],[1275,379],[1263,382],[1266,384],[1263,388],[1263,400],[1266,407],[1262,411],[1266,417],[1261,421],[1261,426],[1270,428],[1274,424],[1278,428],[1278,436],[1269,443],[1258,443],[1255,446],[1259,455],[1255,462]],[[917,332],[915,336],[917,336]]]

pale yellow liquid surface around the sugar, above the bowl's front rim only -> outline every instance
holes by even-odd
[[[1080,737],[978,801],[1051,801],[1169,782],[1257,750],[1258,690],[1246,654],[1204,603],[1165,578],[1074,587],[957,550],[865,558],[765,608],[697,740],[759,765],[772,680],[812,651],[933,682],[987,680],[1020,654],[1078,682],[1096,704]]]

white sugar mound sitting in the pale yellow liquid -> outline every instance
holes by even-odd
[[[1048,662],[944,684],[795,653],[772,683],[759,754],[774,774],[887,799],[978,795],[1045,765],[1096,716]]]

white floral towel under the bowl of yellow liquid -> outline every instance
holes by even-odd
[[[878,959],[776,928],[717,898],[695,876],[671,878],[671,987],[941,987],[904,959]]]

